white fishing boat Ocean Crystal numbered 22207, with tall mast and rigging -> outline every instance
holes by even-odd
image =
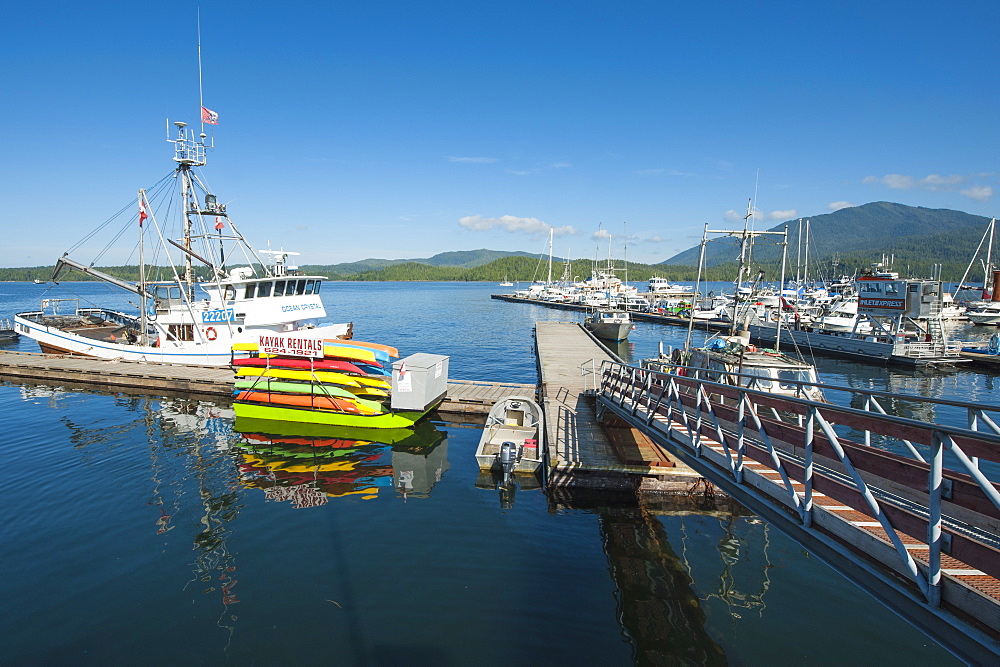
[[[64,273],[76,270],[109,283],[123,291],[122,302],[137,302],[129,302],[134,312],[81,307],[79,298],[57,298],[50,288],[37,311],[15,316],[17,331],[38,341],[43,352],[212,366],[229,364],[234,344],[260,334],[350,338],[350,323],[325,322],[320,293],[326,277],[288,267],[285,260],[298,253],[255,250],[226,205],[205,187],[199,168],[213,146],[205,141],[204,124],[198,137],[186,123],[174,125],[176,138],[168,138],[176,163],[171,172],[139,190],[123,209],[129,213],[101,226],[111,229],[117,222],[116,238],[134,233],[138,279],[134,267],[131,278],[116,277],[94,268],[102,256],[80,261],[70,252],[56,261],[52,276],[58,285]],[[127,249],[120,255],[128,256]],[[156,265],[146,264],[150,256]]]

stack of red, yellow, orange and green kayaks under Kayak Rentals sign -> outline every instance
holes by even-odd
[[[269,347],[264,337],[233,345],[236,416],[362,428],[406,428],[419,418],[388,407],[395,348],[345,340],[321,344],[322,353],[301,354],[271,353],[287,345]]]

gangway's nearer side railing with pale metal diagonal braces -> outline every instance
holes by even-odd
[[[705,369],[691,369],[704,371]],[[723,449],[723,462],[737,485],[743,485],[744,460],[751,459],[762,463],[781,475],[782,486],[785,488],[788,504],[795,510],[804,527],[812,524],[813,488],[815,483],[822,482],[823,490],[831,498],[841,500],[878,521],[889,542],[902,561],[903,571],[918,586],[921,593],[931,606],[939,606],[941,602],[942,553],[951,552],[955,558],[978,568],[989,576],[1000,578],[1000,559],[995,544],[997,539],[979,541],[968,531],[957,528],[955,522],[946,522],[942,511],[942,500],[951,499],[953,507],[967,508],[978,512],[993,506],[986,515],[1000,516],[1000,485],[995,485],[980,471],[972,457],[963,450],[964,446],[976,446],[980,454],[990,454],[990,460],[1000,459],[1000,435],[971,430],[968,428],[921,422],[908,417],[886,415],[879,412],[859,410],[832,403],[821,403],[808,399],[787,396],[776,396],[766,391],[760,391],[740,385],[718,383],[690,375],[677,375],[646,368],[628,366],[617,362],[602,364],[602,384],[600,397],[609,400],[626,410],[632,417],[641,418],[647,426],[654,421],[667,424],[668,437],[673,429],[679,433],[686,432],[687,442],[674,439],[688,447],[696,458],[702,456],[702,440],[704,437],[714,437]],[[721,372],[721,371],[717,371]],[[728,373],[727,373],[728,374]],[[749,376],[751,379],[754,376]],[[683,391],[682,391],[683,389]],[[691,390],[694,390],[693,393]],[[862,392],[863,393],[863,392]],[[711,396],[719,396],[724,400],[713,401]],[[666,404],[664,405],[664,398]],[[799,416],[798,424],[784,422],[777,411],[775,419],[767,416],[761,418],[758,409],[761,406],[780,407],[783,412]],[[643,413],[643,414],[640,414]],[[728,419],[726,419],[728,417]],[[804,418],[804,424],[803,424]],[[896,505],[887,500],[884,493],[875,487],[861,474],[851,455],[855,458],[864,450],[875,450],[870,445],[854,443],[838,434],[834,424],[865,430],[872,426],[884,424],[892,431],[885,435],[899,438],[902,432],[913,440],[925,440],[930,446],[928,464],[918,464],[912,459],[910,465],[926,465],[926,486],[918,488],[912,480],[904,485],[926,495],[926,511],[915,515],[909,508]],[[734,424],[734,426],[724,426]],[[735,433],[733,429],[735,428]],[[728,432],[727,432],[728,430]],[[768,431],[775,431],[778,438],[787,437],[789,433],[802,438],[802,461],[796,462],[787,450],[775,445]],[[817,433],[818,431],[818,433]],[[661,431],[662,432],[662,431]],[[800,444],[796,443],[795,447]],[[761,453],[756,453],[758,450]],[[831,457],[830,450],[833,455]],[[944,452],[949,451],[957,459],[959,467],[949,471],[952,481],[965,484],[965,487],[978,487],[986,496],[986,505],[981,503],[976,509],[969,507],[968,501],[951,497],[951,488],[945,484],[943,467]],[[881,452],[881,450],[875,450]],[[822,463],[814,460],[814,454],[819,453],[824,458],[838,461],[853,484],[839,484],[844,491],[832,488],[831,478],[822,471]],[[861,457],[864,459],[864,457]],[[861,462],[865,465],[864,461]],[[817,470],[817,467],[820,467]],[[724,469],[720,469],[720,473]],[[928,474],[929,473],[929,474]],[[956,477],[958,475],[959,477]],[[792,477],[803,485],[800,492],[793,484]],[[970,479],[970,484],[962,479]],[[850,499],[844,494],[848,494]],[[856,495],[855,495],[856,494]],[[840,497],[838,497],[840,496]],[[858,498],[857,496],[860,496]],[[897,524],[897,525],[894,525]],[[899,532],[918,539],[923,539],[928,549],[928,565],[926,574],[917,566],[913,556],[907,550]],[[915,534],[916,533],[916,534]],[[923,533],[923,534],[922,534]]]

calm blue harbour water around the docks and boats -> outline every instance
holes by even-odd
[[[65,287],[82,304],[107,293]],[[0,284],[0,317],[48,289]],[[449,355],[453,378],[536,382],[533,323],[582,315],[496,291],[338,283],[324,297],[361,339]],[[638,323],[623,352],[683,335]],[[816,361],[831,384],[1000,402],[991,376]],[[317,439],[236,430],[222,402],[11,383],[0,423],[6,663],[954,662],[738,508],[521,488],[504,509],[477,486],[475,427]]]

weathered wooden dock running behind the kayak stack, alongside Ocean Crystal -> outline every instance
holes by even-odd
[[[90,388],[129,388],[150,394],[233,395],[233,371],[218,366],[181,366],[115,361],[73,355],[0,351],[0,379],[72,383]],[[438,412],[485,415],[506,396],[535,395],[533,384],[449,380]]]

